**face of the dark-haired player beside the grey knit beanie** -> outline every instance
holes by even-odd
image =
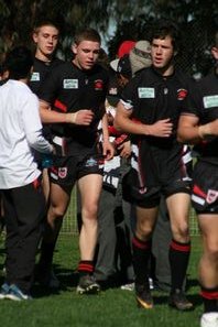
[[[165,69],[172,64],[174,47],[171,36],[165,39],[153,39],[152,41],[152,64],[156,69]]]

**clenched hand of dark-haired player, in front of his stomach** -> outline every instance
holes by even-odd
[[[156,121],[153,124],[146,126],[148,127],[148,135],[159,137],[159,138],[168,138],[173,131],[173,123],[171,119],[162,119]]]

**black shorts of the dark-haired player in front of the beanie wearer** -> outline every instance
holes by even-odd
[[[134,168],[131,168],[122,181],[123,198],[143,208],[156,207],[160,205],[162,195],[167,198],[176,193],[190,194],[190,178],[181,178],[178,173],[172,176],[171,181],[154,186],[140,187],[138,173]]]

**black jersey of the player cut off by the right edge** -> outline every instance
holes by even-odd
[[[184,112],[197,116],[199,124],[218,119],[218,75],[212,73],[199,80],[193,98],[195,106],[185,108]],[[218,137],[203,141],[195,150],[200,160],[218,164]]]

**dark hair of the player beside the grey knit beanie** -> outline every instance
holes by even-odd
[[[156,21],[151,33],[151,41],[171,36],[174,51],[181,50],[182,35],[177,24],[170,20]]]

